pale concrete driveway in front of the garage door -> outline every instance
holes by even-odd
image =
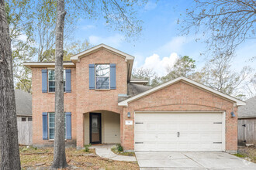
[[[140,169],[256,169],[225,152],[136,152]]]

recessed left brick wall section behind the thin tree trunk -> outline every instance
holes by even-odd
[[[43,140],[43,112],[54,112],[55,94],[42,93],[42,69],[32,69],[32,113],[33,113],[33,145],[53,145],[54,141]],[[72,139],[68,144],[76,141],[76,100],[75,100],[75,69],[71,68],[71,93],[64,93],[64,111],[71,112]]]

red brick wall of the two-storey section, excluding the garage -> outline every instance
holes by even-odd
[[[89,64],[116,63],[116,90],[89,90]],[[33,68],[33,145],[52,145],[43,140],[42,113],[54,112],[54,93],[42,93],[42,69]],[[71,93],[64,94],[65,111],[71,112],[72,140],[78,148],[84,145],[84,114],[95,110],[109,110],[122,113],[118,107],[118,94],[127,93],[127,63],[125,58],[106,49],[85,56],[71,69]]]

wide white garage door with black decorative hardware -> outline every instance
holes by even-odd
[[[224,151],[223,113],[136,112],[135,151]]]

